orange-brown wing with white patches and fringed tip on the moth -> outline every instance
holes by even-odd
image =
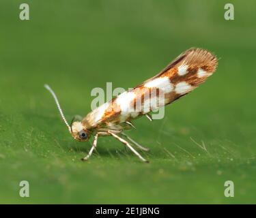
[[[212,53],[190,48],[156,76],[87,114],[82,123],[88,129],[98,129],[136,119],[186,95],[211,76],[216,66]]]

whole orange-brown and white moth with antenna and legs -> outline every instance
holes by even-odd
[[[53,95],[61,117],[75,140],[85,142],[91,136],[94,136],[91,149],[82,160],[89,159],[94,149],[96,149],[98,136],[113,136],[130,149],[134,155],[137,155],[139,159],[148,162],[132,145],[143,151],[149,151],[149,149],[124,134],[124,130],[134,127],[132,120],[141,116],[146,116],[147,119],[152,121],[152,116],[150,116],[152,110],[171,104],[193,91],[214,73],[217,64],[216,57],[208,50],[190,48],[169,63],[156,76],[129,91],[117,95],[111,101],[89,112],[81,121],[72,119],[70,125],[66,121],[53,90],[47,84],[44,87]]]

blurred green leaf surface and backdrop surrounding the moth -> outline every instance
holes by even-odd
[[[229,1],[235,20],[225,1],[25,2],[27,21],[24,1],[0,2],[0,203],[256,203],[255,1]],[[194,46],[217,55],[214,76],[128,132],[150,163],[109,137],[82,162],[91,142],[72,139],[43,84],[70,121],[91,89],[134,87]]]

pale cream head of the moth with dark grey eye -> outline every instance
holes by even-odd
[[[71,128],[71,134],[74,138],[74,140],[79,142],[85,142],[89,140],[90,134],[85,127],[83,127],[82,123],[79,121],[72,122],[70,125]]]

